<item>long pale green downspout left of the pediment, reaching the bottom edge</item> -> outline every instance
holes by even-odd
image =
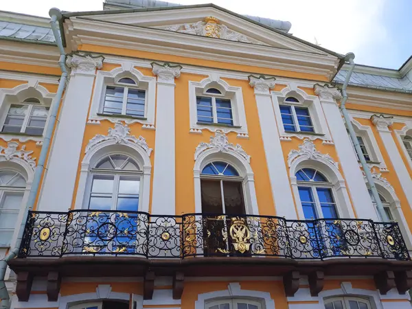
[[[19,254],[20,244],[21,244],[21,240],[23,238],[23,233],[25,230],[27,214],[29,210],[33,208],[34,202],[36,201],[38,187],[40,187],[41,176],[45,168],[45,161],[46,161],[47,153],[49,152],[50,140],[53,135],[54,124],[56,123],[58,109],[60,107],[60,102],[62,100],[62,93],[65,90],[66,80],[67,80],[67,69],[65,66],[66,54],[65,54],[65,49],[63,49],[60,34],[57,30],[57,25],[56,25],[56,21],[62,18],[62,14],[60,10],[56,8],[52,8],[52,10],[49,11],[49,14],[52,17],[52,19],[50,20],[50,26],[52,27],[54,38],[56,39],[56,44],[60,51],[60,59],[58,60],[58,64],[60,65],[62,76],[60,77],[60,82],[58,84],[56,97],[54,98],[54,104],[50,111],[49,124],[47,124],[47,129],[45,132],[45,137],[43,139],[43,146],[41,148],[40,157],[38,158],[36,170],[34,171],[34,179],[33,179],[32,187],[30,189],[30,194],[29,194],[26,207],[24,209],[23,220],[19,228],[19,234],[15,242],[15,247],[14,249],[9,251],[8,255],[6,255],[5,258],[0,260],[0,301],[1,301],[0,309],[10,308],[10,296],[8,295],[8,291],[7,291],[7,288],[5,287],[5,282],[4,282],[5,271],[7,270],[8,261],[16,258],[16,256]]]

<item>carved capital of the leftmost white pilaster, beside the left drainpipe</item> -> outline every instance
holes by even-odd
[[[67,56],[66,65],[75,74],[94,75],[95,69],[102,69],[104,56],[93,56],[87,53]]]

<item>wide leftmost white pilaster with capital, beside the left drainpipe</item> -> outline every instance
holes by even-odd
[[[103,56],[87,54],[67,57],[70,81],[47,162],[39,210],[67,211],[71,207],[95,71],[102,68],[103,60]]]

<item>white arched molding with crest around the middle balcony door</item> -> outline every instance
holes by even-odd
[[[196,213],[202,212],[201,172],[213,161],[224,161],[233,165],[243,177],[244,203],[247,214],[258,215],[258,200],[256,198],[255,180],[250,165],[250,156],[237,144],[229,143],[225,133],[217,131],[215,137],[210,137],[210,143],[200,143],[194,155],[194,207]]]

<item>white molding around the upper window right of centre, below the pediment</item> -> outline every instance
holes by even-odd
[[[277,83],[281,83],[277,80]],[[328,128],[328,122],[326,122],[325,115],[321,106],[321,102],[317,95],[308,95],[304,90],[299,89],[297,82],[287,82],[286,87],[281,91],[271,91],[273,100],[273,110],[275,111],[275,117],[277,122],[277,129],[279,130],[280,137],[297,137],[299,139],[322,139],[325,141],[332,140],[330,131]],[[316,86],[316,85],[315,85]],[[290,102],[284,102],[288,96],[293,96],[299,103],[290,104]],[[309,109],[310,119],[314,126],[314,132],[319,135],[310,135],[301,132],[289,133],[285,132],[282,122],[282,115],[280,113],[279,104],[305,106]]]

